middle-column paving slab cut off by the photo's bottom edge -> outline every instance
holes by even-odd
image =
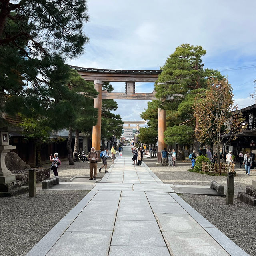
[[[160,246],[110,246],[109,256],[170,256],[166,247]]]

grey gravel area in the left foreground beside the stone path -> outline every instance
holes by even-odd
[[[27,194],[0,198],[0,256],[25,255],[76,204],[88,190],[38,190]]]

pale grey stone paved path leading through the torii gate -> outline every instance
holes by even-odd
[[[146,165],[109,171],[26,256],[248,255]]]

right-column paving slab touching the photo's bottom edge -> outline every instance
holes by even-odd
[[[163,232],[172,256],[228,256],[209,234]]]

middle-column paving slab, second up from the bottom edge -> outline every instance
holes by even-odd
[[[156,221],[116,220],[111,245],[166,246]]]

